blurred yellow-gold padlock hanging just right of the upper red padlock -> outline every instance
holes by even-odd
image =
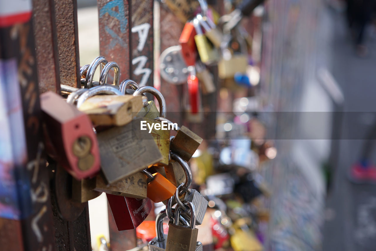
[[[196,42],[197,51],[201,61],[204,64],[216,63],[219,59],[217,50],[213,47],[208,38],[202,33],[199,20],[195,18],[193,20],[194,28],[196,29],[196,35],[194,36],[194,41]]]

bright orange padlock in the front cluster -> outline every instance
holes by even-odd
[[[167,200],[176,192],[174,184],[164,178],[162,174],[151,174],[146,169],[143,172],[152,179],[147,185],[147,197],[155,203]]]

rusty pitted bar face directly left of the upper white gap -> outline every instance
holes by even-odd
[[[80,57],[78,50],[77,0],[55,0],[53,26],[57,37],[60,84],[80,86]]]

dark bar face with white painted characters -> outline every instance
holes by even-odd
[[[153,84],[154,0],[129,1],[130,76],[139,86]]]

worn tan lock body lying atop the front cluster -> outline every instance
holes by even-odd
[[[86,99],[79,110],[89,115],[94,126],[124,126],[142,107],[141,96],[96,95]]]

